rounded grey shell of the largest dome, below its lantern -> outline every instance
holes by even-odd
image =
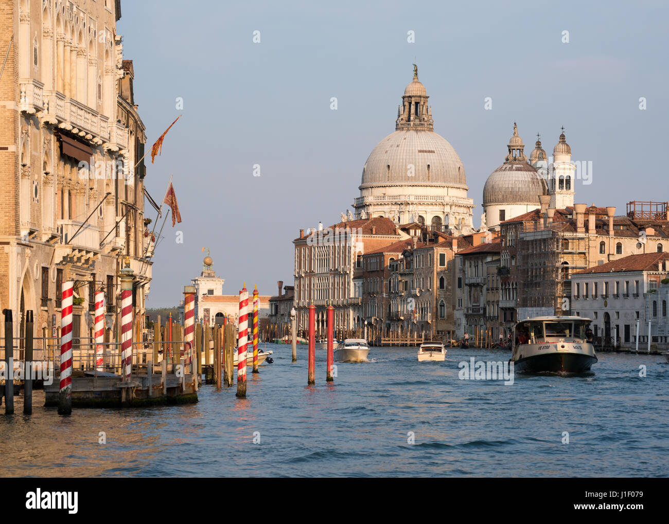
[[[409,165],[413,165],[413,176]],[[365,162],[361,188],[393,184],[467,189],[462,160],[453,146],[434,131],[413,129],[397,130],[386,136]]]

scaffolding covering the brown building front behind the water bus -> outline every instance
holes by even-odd
[[[588,239],[568,222],[526,224],[518,238],[518,306],[571,313],[571,273],[585,269]]]

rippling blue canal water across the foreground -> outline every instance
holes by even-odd
[[[261,345],[262,347],[262,345]],[[203,385],[199,403],[77,409],[61,417],[35,392],[32,416],[0,415],[3,476],[660,477],[669,473],[669,364],[599,354],[589,376],[460,380],[460,362],[501,350],[373,348],[307,387],[306,346],[267,344],[248,398]],[[645,366],[646,376],[640,376]],[[4,411],[4,406],[1,408]],[[101,444],[101,432],[106,443]],[[568,433],[568,434],[567,434]],[[569,443],[567,443],[567,437]],[[409,443],[412,442],[412,443]]]

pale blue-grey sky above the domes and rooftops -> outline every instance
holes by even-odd
[[[122,1],[117,33],[147,146],[182,114],[147,164],[157,200],[173,176],[183,219],[165,225],[147,307],[179,303],[203,247],[225,294],[244,282],[262,295],[292,284],[292,240],[352,210],[367,156],[395,130],[414,61],[434,130],[464,164],[475,227],[514,122],[528,156],[537,132],[552,154],[564,126],[572,161],[592,162],[576,203],[619,215],[632,200],[669,200],[668,6]]]

